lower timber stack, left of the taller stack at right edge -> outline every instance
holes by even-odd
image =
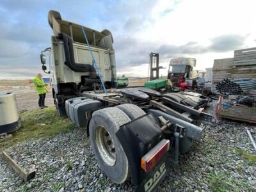
[[[212,67],[212,83],[232,77],[233,58],[214,60]]]

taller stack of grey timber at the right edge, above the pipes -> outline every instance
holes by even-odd
[[[256,78],[256,47],[234,51],[233,78]]]

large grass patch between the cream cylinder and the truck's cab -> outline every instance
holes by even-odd
[[[56,113],[54,106],[45,109],[34,109],[20,114],[22,127],[13,132],[11,140],[0,143],[0,150],[8,148],[25,140],[51,137],[61,132],[68,132],[75,128],[68,118]]]

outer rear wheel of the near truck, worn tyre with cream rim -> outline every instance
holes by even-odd
[[[89,132],[95,157],[103,172],[117,184],[130,178],[130,168],[122,145],[116,137],[121,125],[131,119],[118,108],[95,111],[90,120]]]

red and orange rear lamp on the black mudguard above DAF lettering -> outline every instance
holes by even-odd
[[[149,172],[170,148],[170,140],[162,140],[141,158],[141,168]]]

